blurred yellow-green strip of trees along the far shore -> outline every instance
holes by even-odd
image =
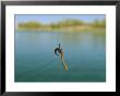
[[[51,23],[51,24],[43,24],[39,22],[31,21],[26,23],[19,23],[17,28],[19,29],[61,29],[61,28],[67,28],[67,27],[74,27],[74,26],[89,26],[89,27],[106,27],[106,19],[105,20],[96,20],[93,23],[85,23],[80,20],[62,20],[57,23]]]

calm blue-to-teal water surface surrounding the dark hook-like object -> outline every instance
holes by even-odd
[[[68,71],[53,49],[61,44]],[[15,32],[15,82],[105,82],[106,34]]]

